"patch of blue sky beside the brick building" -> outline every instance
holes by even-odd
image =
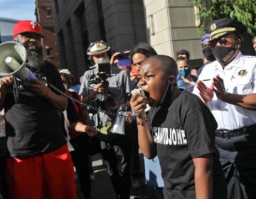
[[[0,17],[36,21],[36,0],[0,0]]]

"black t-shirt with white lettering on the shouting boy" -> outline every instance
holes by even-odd
[[[193,158],[205,154],[214,156],[213,198],[225,198],[225,178],[214,145],[217,124],[213,115],[190,92],[181,92],[172,103],[170,99],[171,86],[161,105],[150,109],[148,120],[164,179],[164,198],[196,198]]]

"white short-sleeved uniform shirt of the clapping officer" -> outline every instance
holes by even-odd
[[[198,80],[210,87],[216,75],[220,75],[223,79],[226,92],[238,95],[256,93],[256,57],[239,53],[224,69],[215,61],[203,68]],[[201,97],[196,87],[193,93]],[[212,101],[207,105],[218,122],[217,129],[240,129],[256,124],[255,111],[223,102],[215,93]]]

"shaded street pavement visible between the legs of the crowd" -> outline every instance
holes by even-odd
[[[144,160],[142,154],[140,155],[141,168],[144,171]],[[95,172],[95,181],[92,182],[92,199],[116,199],[114,194],[114,188],[107,174],[107,170],[102,163],[100,154],[92,156],[92,168]],[[79,190],[79,183],[77,181],[78,187],[78,199],[83,199]],[[156,199],[156,193],[154,188],[147,185],[142,185],[138,190],[131,188],[130,199]]]

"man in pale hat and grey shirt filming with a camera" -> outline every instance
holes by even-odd
[[[82,102],[117,113],[120,105],[129,104],[127,94],[130,92],[130,80],[124,70],[115,66],[110,68],[118,53],[110,61],[107,53],[109,51],[110,46],[104,41],[91,43],[87,48],[87,55],[95,65],[83,75],[79,94],[82,95]],[[102,112],[91,112],[90,117],[92,125],[99,130],[114,122],[112,115]],[[98,152],[105,160],[117,198],[125,199],[129,198],[131,183],[130,144],[127,136],[111,134],[105,141],[98,141]]]

